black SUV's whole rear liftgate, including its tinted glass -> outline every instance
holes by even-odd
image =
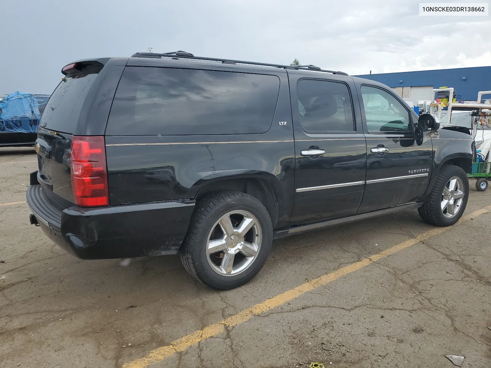
[[[88,92],[102,64],[71,70],[56,87],[44,108],[38,128],[38,182],[73,202],[70,176],[72,134],[76,132]]]

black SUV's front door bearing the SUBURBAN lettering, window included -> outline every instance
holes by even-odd
[[[367,143],[366,188],[358,213],[418,201],[428,187],[433,146],[414,141],[415,115],[391,92],[361,85]]]

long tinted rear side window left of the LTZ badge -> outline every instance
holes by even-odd
[[[278,92],[271,75],[126,67],[106,135],[264,133]]]

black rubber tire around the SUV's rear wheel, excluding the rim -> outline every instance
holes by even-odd
[[[262,240],[256,258],[245,270],[224,276],[210,265],[206,248],[217,221],[235,210],[247,211],[257,219]],[[184,267],[196,280],[209,288],[226,290],[244,285],[256,276],[268,258],[272,243],[273,224],[262,203],[242,192],[222,191],[205,196],[197,204],[179,254]]]

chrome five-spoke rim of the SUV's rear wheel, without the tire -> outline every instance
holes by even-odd
[[[206,244],[206,258],[219,275],[237,275],[255,261],[261,239],[261,226],[252,213],[230,211],[213,225]]]

